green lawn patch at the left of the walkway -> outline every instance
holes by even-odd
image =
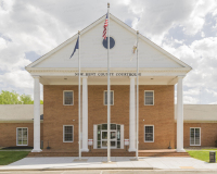
[[[0,151],[0,165],[8,165],[25,158],[29,151]]]

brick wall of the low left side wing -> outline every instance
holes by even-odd
[[[28,127],[28,146],[34,146],[34,123],[0,123],[0,147],[16,146],[16,127]],[[43,123],[40,126],[43,140]]]

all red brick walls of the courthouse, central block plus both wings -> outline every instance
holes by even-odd
[[[105,85],[88,86],[88,139],[93,139],[93,124],[107,122],[107,107],[103,103]],[[174,119],[174,86],[149,85],[139,88],[139,149],[176,148]],[[63,91],[74,91],[74,105],[63,105]],[[111,123],[124,125],[124,139],[129,139],[129,86],[111,86],[114,105]],[[154,105],[144,105],[144,90],[154,90]],[[78,86],[43,86],[43,148],[78,150]],[[63,142],[63,125],[74,125],[74,142]],[[144,142],[144,125],[154,125],[154,142]],[[33,123],[0,123],[0,147],[16,146],[16,127],[28,127],[28,146],[34,146]],[[190,147],[190,127],[201,127],[201,146],[215,146],[217,123],[184,123],[183,147]],[[125,147],[126,148],[126,147]]]

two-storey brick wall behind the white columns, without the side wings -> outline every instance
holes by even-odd
[[[88,86],[88,138],[93,139],[93,124],[107,122],[107,107],[103,91],[107,86]],[[63,105],[63,90],[74,90],[74,105]],[[125,139],[129,138],[129,86],[111,86],[114,105],[111,123],[124,124]],[[144,105],[144,90],[154,90],[154,105]],[[139,148],[159,149],[175,147],[174,86],[140,86]],[[43,140],[52,149],[78,149],[78,87],[43,86]],[[75,120],[75,121],[73,121]],[[143,121],[144,120],[144,121]],[[63,125],[74,125],[74,142],[63,142]],[[154,125],[154,142],[144,142],[144,125]]]

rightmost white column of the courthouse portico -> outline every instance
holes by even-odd
[[[178,84],[177,84],[177,151],[178,152],[184,152],[182,79],[183,76],[178,76]]]

